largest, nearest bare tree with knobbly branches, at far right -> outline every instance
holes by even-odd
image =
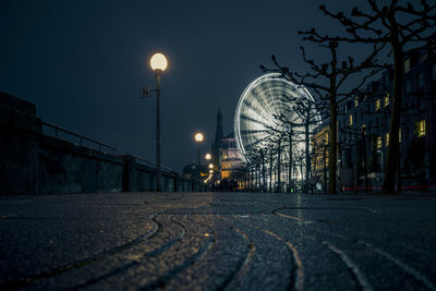
[[[364,12],[353,8],[351,16],[343,12],[332,13],[324,5],[319,9],[335,20],[338,20],[346,28],[347,36],[328,37],[331,41],[348,41],[363,44],[388,44],[389,54],[393,63],[393,96],[392,113],[390,117],[390,145],[387,155],[387,167],[383,184],[383,193],[396,193],[399,177],[399,129],[402,104],[402,76],[403,59],[411,49],[431,48],[435,44],[434,29],[436,27],[436,3],[427,0],[400,1],[391,0],[389,4],[380,5],[376,0],[366,0],[370,11]],[[308,33],[314,41],[324,41],[325,36]],[[412,48],[413,47],[413,48]],[[407,64],[405,64],[407,65]]]

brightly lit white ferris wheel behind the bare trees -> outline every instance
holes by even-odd
[[[294,111],[295,104],[301,100],[314,101],[314,98],[306,88],[280,77],[279,73],[265,74],[244,89],[238,101],[233,130],[238,149],[247,163],[251,163],[251,150],[267,146],[270,129],[287,131],[277,117],[282,114],[289,121],[303,123],[302,118]],[[319,114],[316,116],[316,120],[320,122]],[[301,132],[293,136],[298,142],[292,143],[292,153],[304,150],[303,138]],[[282,158],[289,159],[289,150],[283,150]]]

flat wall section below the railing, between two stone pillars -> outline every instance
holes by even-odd
[[[124,158],[41,135],[39,193],[94,193],[123,190]]]

